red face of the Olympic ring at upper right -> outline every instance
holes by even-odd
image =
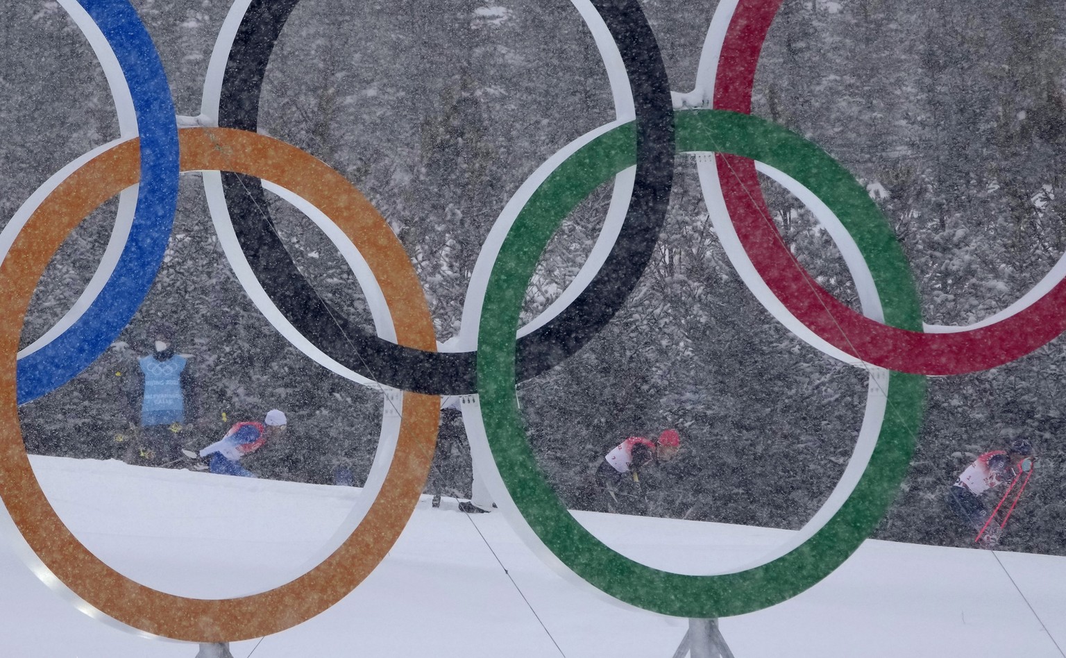
[[[755,69],[782,0],[740,0],[718,59],[713,108],[750,114]],[[755,163],[716,155],[722,195],[756,271],[778,301],[820,338],[868,364],[914,374],[964,374],[1002,366],[1066,331],[1066,279],[1014,315],[975,327],[922,333],[849,308],[800,264],[773,221]]]

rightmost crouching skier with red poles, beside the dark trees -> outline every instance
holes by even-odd
[[[992,548],[999,541],[1000,527],[988,521],[988,509],[982,498],[987,492],[1014,480],[1033,463],[1033,446],[1024,438],[1011,443],[1006,450],[986,452],[966,467],[948,487],[948,507],[975,533],[985,529],[981,545]],[[987,528],[985,528],[987,524]]]

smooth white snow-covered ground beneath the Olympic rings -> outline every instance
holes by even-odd
[[[144,584],[200,597],[282,582],[330,541],[359,495],[118,462],[34,458],[33,464],[56,511],[101,559]],[[627,555],[690,568],[749,557],[787,534],[578,517]],[[721,627],[737,658],[1062,658],[1066,558],[868,541],[811,590],[722,620]],[[426,501],[385,561],[340,604],[231,648],[237,658],[253,651],[255,658],[668,658],[685,629],[684,620],[576,589],[544,566],[499,513],[467,516]],[[0,656],[192,658],[196,652],[86,616],[0,545]]]

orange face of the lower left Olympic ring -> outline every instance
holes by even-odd
[[[181,130],[181,171],[228,171],[270,180],[317,206],[344,231],[373,270],[398,341],[436,351],[430,309],[414,267],[382,215],[340,174],[298,148],[254,132]],[[136,140],[97,156],[60,184],[30,218],[0,266],[0,497],[44,565],[109,616],[157,636],[231,642],[275,633],[324,611],[358,585],[392,547],[422,493],[437,440],[439,398],[403,395],[395,455],[381,495],[329,557],[284,585],[226,599],[166,594],[142,585],[94,556],[49,504],[30,465],[18,423],[16,353],[30,298],[56,250],[82,220],[138,182]]]

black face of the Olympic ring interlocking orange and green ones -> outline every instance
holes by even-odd
[[[263,75],[300,0],[253,0],[223,78],[219,126],[256,132]],[[621,307],[644,272],[666,218],[674,176],[674,108],[666,68],[637,0],[592,0],[625,63],[636,111],[636,179],[615,246],[570,306],[518,340],[518,380],[580,350]],[[271,301],[318,349],[381,384],[429,395],[477,390],[477,352],[424,352],[379,338],[326,304],[274,230],[259,179],[223,174],[237,240]]]

